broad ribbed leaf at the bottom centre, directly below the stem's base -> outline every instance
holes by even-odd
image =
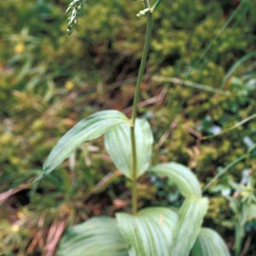
[[[176,212],[165,207],[149,207],[137,215],[117,213],[116,218],[119,230],[130,247],[129,255],[170,255],[172,237],[177,224]]]

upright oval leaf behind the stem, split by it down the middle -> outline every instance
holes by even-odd
[[[139,177],[147,170],[152,155],[153,135],[146,119],[136,119],[135,136]],[[122,124],[109,130],[104,136],[104,141],[115,166],[131,178],[131,126]]]

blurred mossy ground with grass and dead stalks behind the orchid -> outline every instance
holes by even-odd
[[[144,39],[145,20],[136,17],[142,3],[90,1],[72,36],[68,3],[0,3],[3,255],[51,255],[67,224],[130,208],[126,184],[101,140],[32,185],[50,149],[79,119],[108,108],[131,114]],[[255,202],[255,28],[254,0],[164,1],[154,15],[140,103],[154,129],[155,162],[189,166],[202,186],[224,172],[206,190],[206,222],[230,250],[235,230],[244,234],[242,255],[256,253],[256,223],[242,219],[244,206]],[[141,179],[139,195],[140,207],[182,201],[172,183],[156,177]]]

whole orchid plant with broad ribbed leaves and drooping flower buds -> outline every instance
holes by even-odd
[[[73,0],[68,9],[68,32],[86,0]],[[143,0],[137,16],[146,19],[143,55],[137,76],[131,119],[117,110],[103,110],[82,119],[61,137],[44,162],[44,175],[54,171],[82,143],[104,137],[113,164],[131,182],[131,212],[118,212],[116,218],[95,217],[69,227],[62,236],[57,255],[137,255],[137,256],[226,256],[230,255],[217,232],[202,228],[208,200],[202,195],[195,174],[186,166],[169,162],[150,165],[153,134],[146,119],[137,118],[137,102],[148,58],[152,15],[160,5]],[[147,207],[137,210],[137,180],[154,173],[177,185],[184,197],[180,209]]]

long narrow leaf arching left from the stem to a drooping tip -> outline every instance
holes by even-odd
[[[116,110],[103,110],[82,119],[67,131],[52,149],[48,159],[44,162],[44,173],[48,174],[61,165],[62,161],[82,143],[101,137],[102,134],[122,123],[129,123],[129,119],[125,117],[124,113]]]

